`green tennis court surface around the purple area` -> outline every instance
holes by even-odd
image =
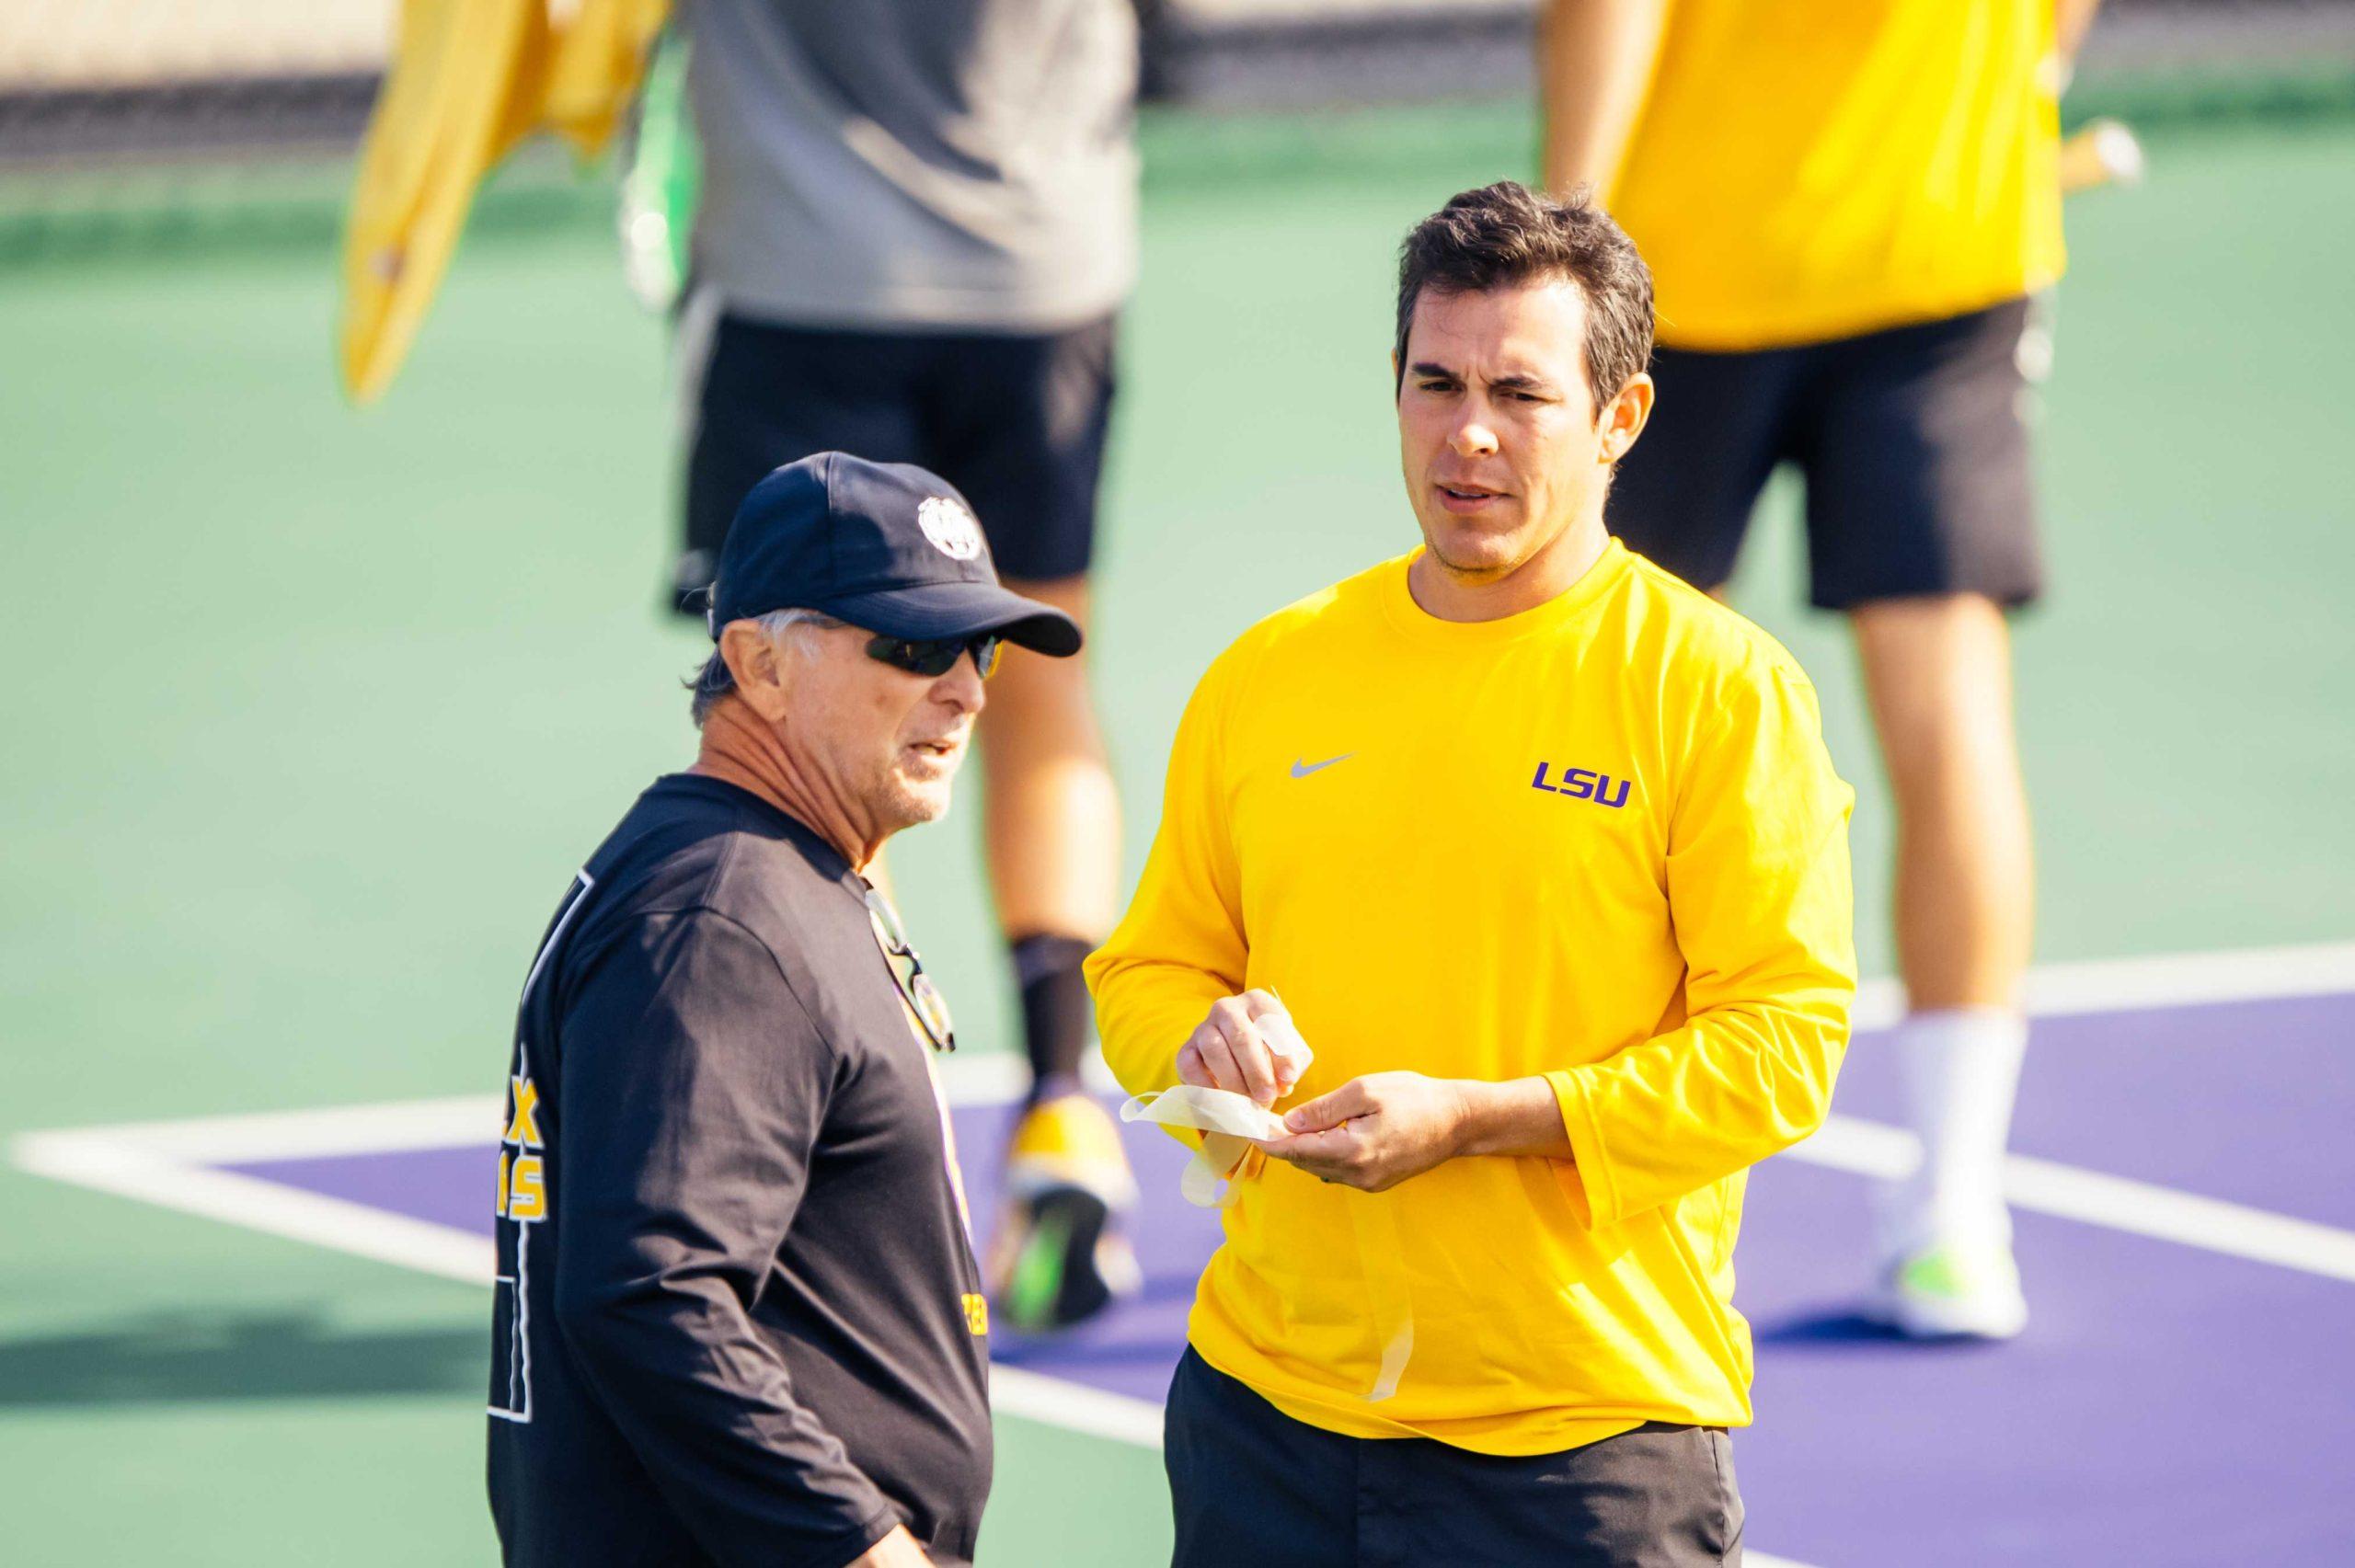
[[[2355,120],[2145,139],[2145,188],[2070,210],[2042,424],[2042,961],[2355,937]],[[1392,247],[1528,146],[1493,108],[1152,127],[1097,640],[1130,869],[1208,657],[1413,542]],[[367,412],[332,391],[320,205],[12,247],[0,1132],[497,1088],[551,899],[690,756],[697,659],[655,610],[662,327],[603,210],[542,207],[495,202]],[[1825,692],[1886,972],[1889,819],[1787,501],[1740,603]],[[991,1045],[975,819],[893,862]],[[490,1561],[485,1323],[459,1283],[0,1170],[5,1556]],[[1154,1453],[1003,1420],[987,1563],[1166,1542]]]

